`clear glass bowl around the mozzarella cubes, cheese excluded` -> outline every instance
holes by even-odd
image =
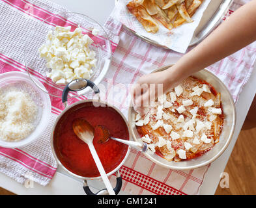
[[[71,26],[71,31],[80,26],[83,34],[88,34],[92,38],[94,43],[90,46],[90,49],[95,51],[97,62],[96,67],[92,68],[93,73],[89,79],[98,85],[104,79],[110,66],[112,57],[111,43],[106,31],[97,21],[76,12],[53,14],[43,19],[43,21],[36,21],[30,26],[29,37],[24,51],[24,61],[27,73],[33,83],[44,92],[50,94],[50,96],[61,98],[64,85],[57,85],[46,77],[46,72],[51,72],[51,69],[46,67],[46,60],[40,57],[38,51],[40,46],[46,43],[48,31],[54,31],[56,26]],[[99,31],[97,36],[92,35],[92,29]],[[43,83],[44,88],[36,83],[37,79]],[[70,92],[68,98],[83,96],[90,90],[91,88],[86,88],[81,92]]]

